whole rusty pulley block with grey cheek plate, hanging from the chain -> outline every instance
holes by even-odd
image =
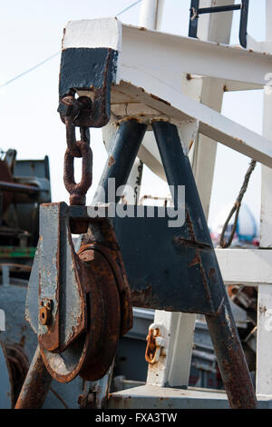
[[[44,364],[59,382],[77,375],[88,381],[102,378],[120,336],[132,324],[130,289],[112,225],[107,218],[83,218],[81,209],[85,207],[64,203],[41,206],[27,295],[27,318],[38,335]],[[74,230],[86,222],[89,232],[76,253],[70,224]],[[93,227],[101,241],[94,238]]]

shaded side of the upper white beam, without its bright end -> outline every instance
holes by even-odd
[[[121,51],[121,65],[133,64],[177,87],[182,73],[262,87],[271,71],[271,55],[131,25],[122,25]]]

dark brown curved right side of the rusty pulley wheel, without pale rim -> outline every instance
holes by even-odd
[[[114,359],[120,337],[121,304],[119,290],[111,263],[95,245],[82,247],[79,256],[86,267],[90,281],[90,301],[102,295],[101,301],[91,307],[92,321],[89,333],[92,336],[80,375],[88,381],[99,380],[109,370]],[[94,287],[94,283],[96,288]],[[100,332],[100,333],[99,333]]]

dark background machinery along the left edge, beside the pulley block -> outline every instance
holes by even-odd
[[[6,330],[1,333],[1,342],[3,363],[9,372],[11,406],[15,405],[29,368],[28,359],[32,357],[30,337],[27,349],[24,348],[25,325],[21,311],[39,237],[39,204],[48,202],[51,202],[48,157],[44,160],[17,160],[15,150],[2,152],[0,307],[5,310]],[[15,322],[10,324],[14,316]]]

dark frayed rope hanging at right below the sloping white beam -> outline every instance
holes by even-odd
[[[237,223],[238,223],[238,214],[239,214],[241,202],[242,202],[242,199],[244,197],[244,194],[246,193],[246,191],[248,189],[249,178],[250,178],[250,175],[252,174],[252,172],[254,171],[255,166],[256,166],[256,160],[251,160],[250,165],[248,167],[247,174],[245,175],[245,178],[244,178],[244,183],[241,186],[241,189],[239,191],[238,198],[236,199],[235,204],[233,205],[232,209],[230,210],[230,212],[228,214],[228,218],[226,220],[226,223],[224,223],[224,226],[223,226],[223,229],[222,229],[222,232],[220,235],[220,246],[221,246],[221,248],[228,248],[230,246],[230,244],[232,243],[234,234],[236,232]],[[230,236],[228,238],[228,242],[226,242],[224,239],[225,233],[226,233],[226,230],[228,227],[228,223],[229,223],[229,221],[230,221],[230,219],[234,213],[236,213],[235,218],[234,218],[234,223],[233,223],[232,228],[231,228],[231,233],[230,233]]]

